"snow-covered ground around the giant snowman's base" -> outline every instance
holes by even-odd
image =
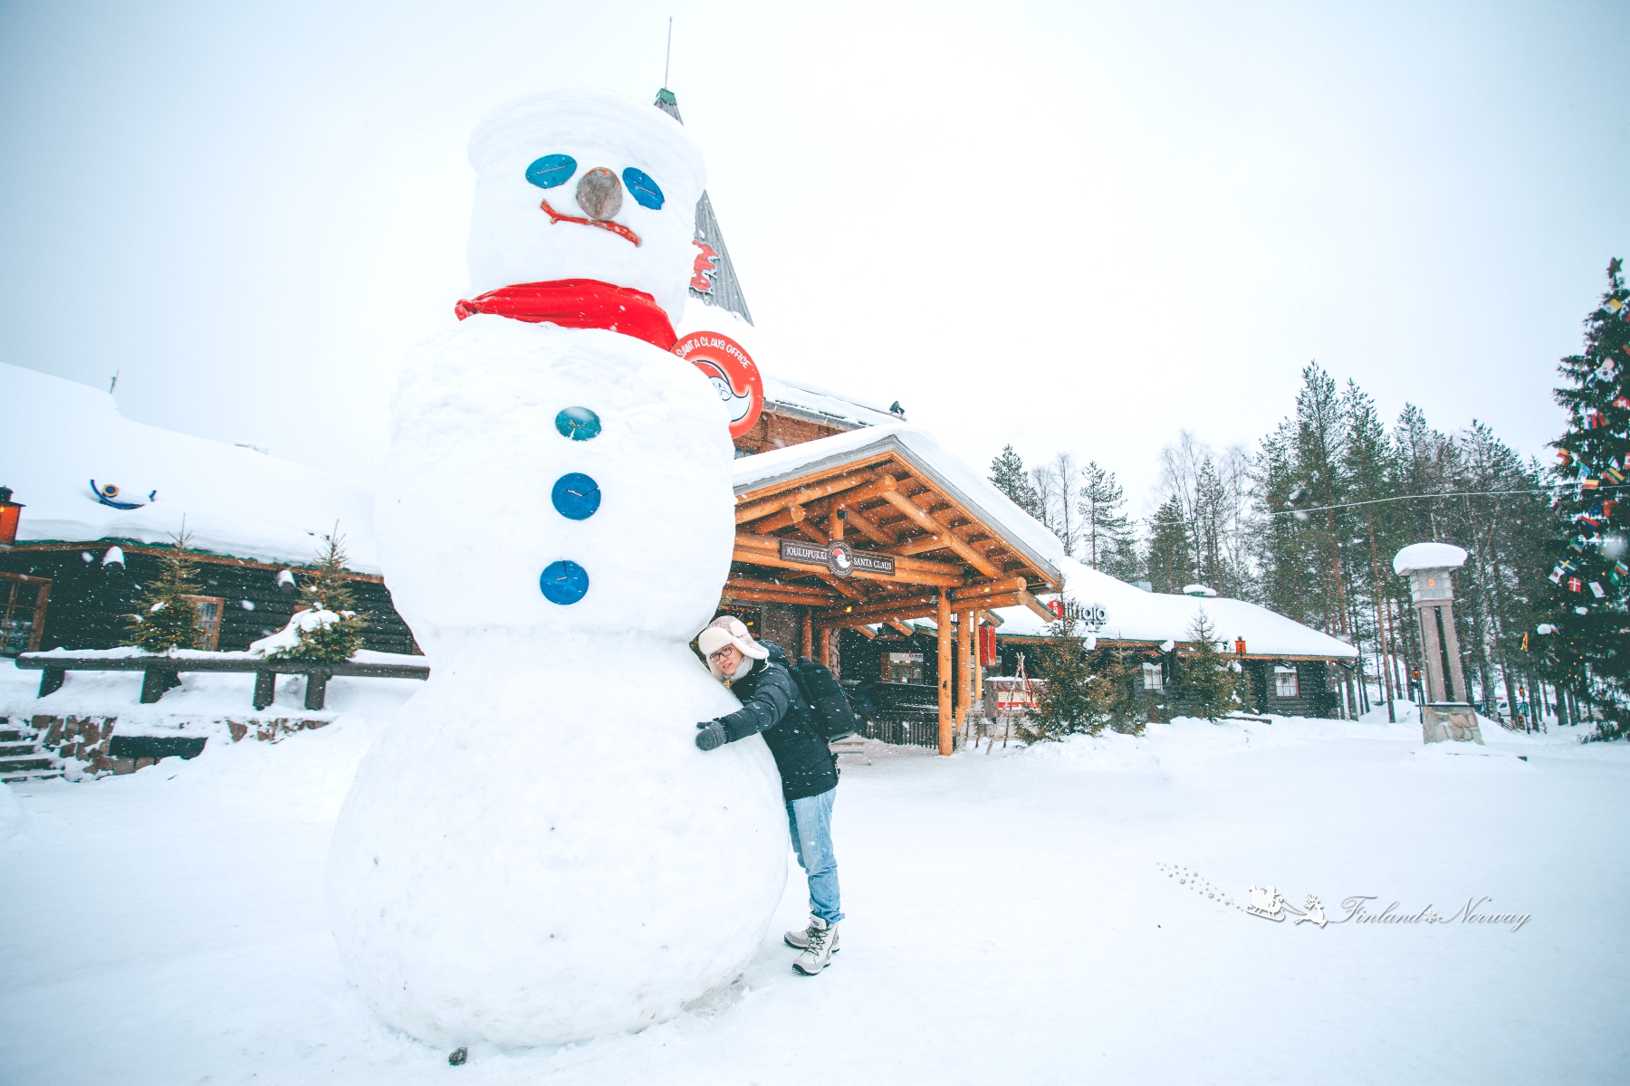
[[[62,692],[73,694],[77,679]],[[240,677],[241,679],[241,677]],[[248,700],[187,676],[174,698]],[[34,672],[0,671],[0,708]],[[99,676],[135,702],[140,676]],[[297,705],[293,684],[280,702]],[[447,1053],[350,995],[321,905],[355,760],[411,682],[334,679],[336,723],[192,762],[13,786],[0,840],[8,1083],[1623,1081],[1630,746],[1570,729],[1423,751],[1416,725],[1178,721],[937,759],[870,744],[836,848],[849,920],[797,977],[791,865],[742,982],[637,1036]],[[86,697],[82,687],[78,697]],[[54,695],[55,697],[55,695]],[[47,708],[51,703],[41,705]],[[64,702],[67,705],[67,702]],[[174,705],[181,705],[176,700]],[[134,705],[132,705],[134,708]],[[1384,710],[1382,710],[1384,718]],[[1518,755],[1527,755],[1527,762]],[[494,772],[517,772],[494,757]],[[0,837],[5,835],[0,798]],[[1200,876],[1178,882],[1172,865]],[[1271,923],[1376,896],[1511,923]]]

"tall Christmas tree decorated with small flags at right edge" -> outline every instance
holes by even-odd
[[[1557,402],[1568,431],[1557,448],[1557,511],[1563,521],[1550,571],[1550,624],[1544,637],[1552,674],[1604,713],[1620,734],[1630,694],[1630,291],[1622,262],[1607,265],[1607,291],[1584,321],[1584,353],[1563,358]],[[1544,628],[1544,627],[1542,627]]]

